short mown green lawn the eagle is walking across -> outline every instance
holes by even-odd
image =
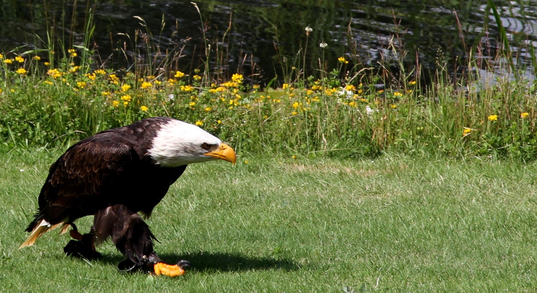
[[[182,277],[18,250],[55,151],[0,155],[0,289],[24,292],[498,292],[537,286],[535,164],[383,156],[191,165],[149,225]],[[244,164],[248,160],[248,164]],[[22,171],[24,170],[24,171]],[[140,182],[151,184],[151,182]],[[89,229],[91,219],[78,221]]]

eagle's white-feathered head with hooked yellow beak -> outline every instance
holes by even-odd
[[[235,151],[207,131],[179,120],[169,120],[158,130],[148,150],[151,159],[163,167],[223,159],[235,164]]]

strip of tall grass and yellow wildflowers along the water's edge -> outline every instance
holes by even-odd
[[[338,58],[337,67],[326,68],[321,53],[317,71],[306,74],[307,50],[328,46],[308,44],[310,30],[305,28],[296,56],[282,56],[275,64],[285,76],[261,84],[255,74],[212,70],[208,56],[222,50],[218,40],[213,47],[205,44],[205,65],[190,71],[174,67],[179,53],[161,54],[140,31],[131,45],[151,59],[128,68],[99,63],[89,45],[89,17],[81,45],[59,46],[68,42],[50,39],[46,48],[0,55],[4,149],[64,146],[142,118],[172,116],[207,129],[240,152],[537,157],[535,87],[524,78],[489,76],[486,70],[453,74],[447,61],[438,60],[425,79],[419,64],[404,67],[396,37],[386,63],[367,66],[351,50]],[[503,53],[499,48],[492,61],[475,54],[468,68],[509,72]]]

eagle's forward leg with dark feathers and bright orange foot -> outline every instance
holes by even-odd
[[[118,265],[124,272],[142,269],[156,275],[178,276],[190,267],[190,263],[183,260],[177,265],[162,262],[153,250],[156,238],[149,226],[140,215],[122,204],[98,211],[93,219],[93,230],[97,243],[111,237],[118,251],[127,257]]]

